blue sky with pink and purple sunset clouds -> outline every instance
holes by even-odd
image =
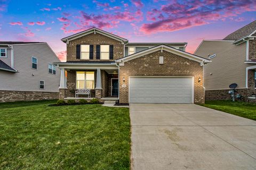
[[[187,42],[194,53],[254,20],[255,0],[0,0],[0,41],[47,42],[65,61],[60,39],[97,27],[129,42]]]

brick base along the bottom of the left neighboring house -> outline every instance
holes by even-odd
[[[0,102],[58,99],[59,92],[0,90]]]

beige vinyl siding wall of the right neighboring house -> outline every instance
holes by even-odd
[[[245,88],[246,67],[250,66],[244,63],[246,43],[204,41],[195,54],[205,58],[216,54],[212,62],[204,66],[205,90],[229,89],[231,83],[237,83],[237,88]]]

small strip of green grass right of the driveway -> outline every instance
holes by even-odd
[[[256,104],[230,100],[205,101],[201,106],[227,112],[233,115],[250,118],[256,121]]]

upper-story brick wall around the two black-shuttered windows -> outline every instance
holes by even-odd
[[[89,35],[69,41],[67,44],[67,61],[89,61],[76,59],[76,45],[90,44],[93,45],[93,60],[90,61],[104,61],[96,59],[96,45],[109,44],[114,46],[113,61],[124,56],[124,45],[120,41],[103,36],[100,33],[90,33]],[[109,60],[107,60],[109,61]]]

